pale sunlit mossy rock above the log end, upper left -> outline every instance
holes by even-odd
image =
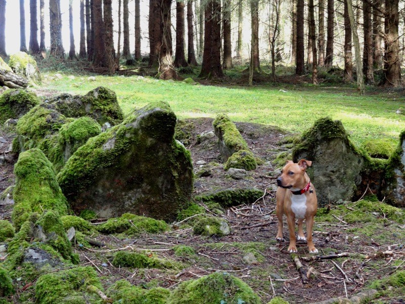
[[[12,70],[32,84],[41,84],[42,77],[35,59],[24,52],[10,55],[9,66]]]

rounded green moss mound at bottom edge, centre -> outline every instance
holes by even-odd
[[[189,280],[179,285],[171,294],[168,304],[192,303],[262,303],[246,283],[225,272]]]

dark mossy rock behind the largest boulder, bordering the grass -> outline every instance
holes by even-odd
[[[115,126],[124,118],[115,92],[104,87],[98,87],[84,96],[65,93],[49,99],[48,103],[65,117],[88,116],[100,125],[109,123]]]

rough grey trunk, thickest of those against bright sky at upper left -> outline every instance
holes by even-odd
[[[49,15],[50,15],[50,32],[51,32],[51,50],[50,55],[64,59],[65,50],[62,43],[62,23],[60,13],[60,0],[49,1]]]

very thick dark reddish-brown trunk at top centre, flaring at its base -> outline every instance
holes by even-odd
[[[221,2],[210,0],[205,8],[203,66],[198,77],[214,79],[225,77],[221,65]]]

